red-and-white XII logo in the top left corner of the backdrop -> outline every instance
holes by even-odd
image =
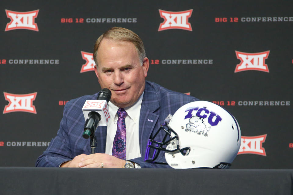
[[[39,31],[38,25],[34,19],[38,17],[39,10],[29,12],[16,12],[5,9],[7,18],[10,18],[10,23],[7,23],[5,31],[16,29],[27,29]]]

